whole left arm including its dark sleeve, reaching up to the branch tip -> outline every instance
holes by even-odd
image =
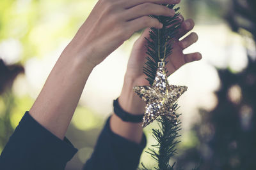
[[[1,168],[65,167],[76,150],[64,136],[93,67],[135,31],[163,27],[158,20],[148,17],[173,16],[173,10],[159,5],[163,3],[179,3],[179,0],[100,0],[95,5],[61,53],[29,113],[24,115],[9,139],[0,156]]]

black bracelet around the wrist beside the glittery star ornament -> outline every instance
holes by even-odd
[[[114,106],[114,113],[116,114],[116,116],[121,118],[124,122],[133,122],[133,123],[142,122],[144,115],[132,115],[131,113],[124,111],[118,103],[118,98],[114,100],[113,106]]]

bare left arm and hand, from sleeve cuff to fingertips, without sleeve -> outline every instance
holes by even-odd
[[[102,0],[96,4],[75,38],[61,54],[29,110],[39,124],[58,138],[64,138],[93,67],[135,31],[145,27],[162,27],[158,20],[148,15],[174,15],[173,10],[151,3],[153,1],[122,0],[113,3]],[[172,4],[179,1],[161,0],[157,3]]]

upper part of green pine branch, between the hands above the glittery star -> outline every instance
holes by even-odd
[[[163,4],[164,6],[173,9],[175,5]],[[179,8],[175,8],[178,11]],[[156,76],[157,62],[165,60],[166,56],[172,53],[172,39],[175,38],[180,27],[178,18],[180,13],[176,13],[174,17],[151,16],[157,18],[163,24],[162,29],[151,28],[150,39],[147,39],[147,61],[146,67],[143,68],[144,73],[148,76],[147,80],[150,85]],[[168,71],[166,71],[166,74]]]

